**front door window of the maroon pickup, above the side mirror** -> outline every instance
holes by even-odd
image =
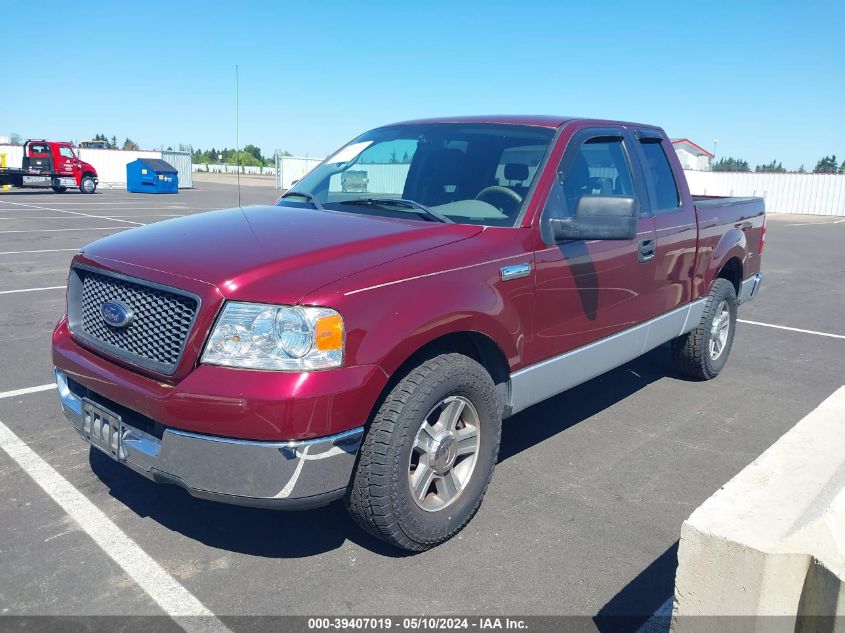
[[[558,180],[546,204],[551,217],[568,218],[582,196],[633,196],[634,182],[622,139],[591,138],[574,158],[564,155]]]

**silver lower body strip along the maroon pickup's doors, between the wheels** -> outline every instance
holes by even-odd
[[[595,343],[560,354],[511,375],[511,413],[634,360],[698,327],[706,300],[698,299]]]

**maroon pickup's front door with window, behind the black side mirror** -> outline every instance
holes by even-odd
[[[582,196],[645,196],[621,128],[587,128],[567,144],[541,217],[548,248],[535,253],[535,355],[556,356],[654,316],[654,220],[641,215],[633,240],[555,244],[549,218],[572,217]],[[647,200],[647,199],[646,199]]]

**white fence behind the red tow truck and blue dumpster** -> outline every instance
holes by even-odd
[[[0,145],[0,154],[6,154],[8,167],[20,167],[23,161],[23,146]],[[126,186],[126,165],[139,158],[161,158],[179,171],[179,188],[193,185],[191,180],[191,155],[186,152],[124,151],[118,149],[76,148],[79,160],[90,163],[97,170],[101,186]]]

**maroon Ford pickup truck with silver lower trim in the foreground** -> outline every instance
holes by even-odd
[[[349,170],[365,187],[344,187]],[[719,374],[760,281],[759,198],[690,196],[656,127],[536,116],[367,132],[275,206],[85,247],[53,333],[64,412],[158,482],[345,498],[398,547],[478,509],[502,419],[671,342]]]

